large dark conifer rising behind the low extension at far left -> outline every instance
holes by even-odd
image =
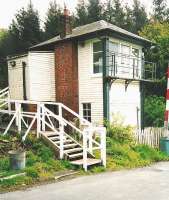
[[[28,47],[41,41],[39,15],[32,3],[27,10],[22,8],[16,15],[9,28],[12,53],[21,53]]]

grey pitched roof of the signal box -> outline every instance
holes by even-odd
[[[49,45],[49,44],[53,44],[53,43],[56,43],[56,42],[61,41],[61,40],[80,37],[80,36],[90,34],[90,33],[94,33],[94,32],[101,31],[101,30],[109,30],[109,31],[112,31],[112,32],[120,33],[122,35],[126,35],[130,38],[133,38],[133,39],[136,39],[136,40],[139,40],[139,41],[142,41],[142,42],[152,43],[150,40],[147,40],[147,39],[140,37],[140,36],[138,36],[134,33],[126,31],[126,30],[124,30],[124,29],[122,29],[118,26],[115,26],[113,24],[110,24],[110,23],[108,23],[104,20],[100,20],[100,21],[97,21],[97,22],[93,22],[93,23],[90,23],[90,24],[87,24],[87,25],[84,25],[84,26],[79,26],[77,28],[74,28],[72,30],[72,34],[66,35],[66,37],[64,37],[64,38],[61,38],[60,36],[56,36],[52,39],[49,39],[47,41],[44,41],[40,44],[35,45],[35,46],[31,47],[30,49],[33,49],[33,48],[36,48],[36,47],[46,46],[46,45]]]

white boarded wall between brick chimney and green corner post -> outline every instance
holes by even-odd
[[[84,46],[78,45],[79,113],[83,116],[83,103],[91,103],[92,122],[103,121],[103,79],[102,74],[93,74],[92,40]]]

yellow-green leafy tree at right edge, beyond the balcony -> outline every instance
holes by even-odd
[[[169,60],[169,23],[153,22],[146,25],[140,32],[145,37],[156,43],[152,50],[146,53],[147,60],[157,64],[157,81],[149,84],[147,88],[148,95],[165,96],[166,92],[166,71]]]

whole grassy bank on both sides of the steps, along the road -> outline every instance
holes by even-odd
[[[0,191],[11,191],[42,182],[54,180],[58,172],[75,169],[68,161],[57,160],[54,152],[41,139],[29,136],[25,142],[26,168],[12,171],[9,166],[8,151],[17,149],[18,138],[1,137],[0,178],[24,172],[25,176],[0,181]],[[0,141],[1,141],[0,140]],[[96,153],[97,157],[97,153]],[[130,127],[107,125],[107,168],[92,167],[87,173],[79,169],[80,174],[93,174],[143,167],[158,161],[168,161],[169,157],[157,149],[145,145],[136,145]]]

